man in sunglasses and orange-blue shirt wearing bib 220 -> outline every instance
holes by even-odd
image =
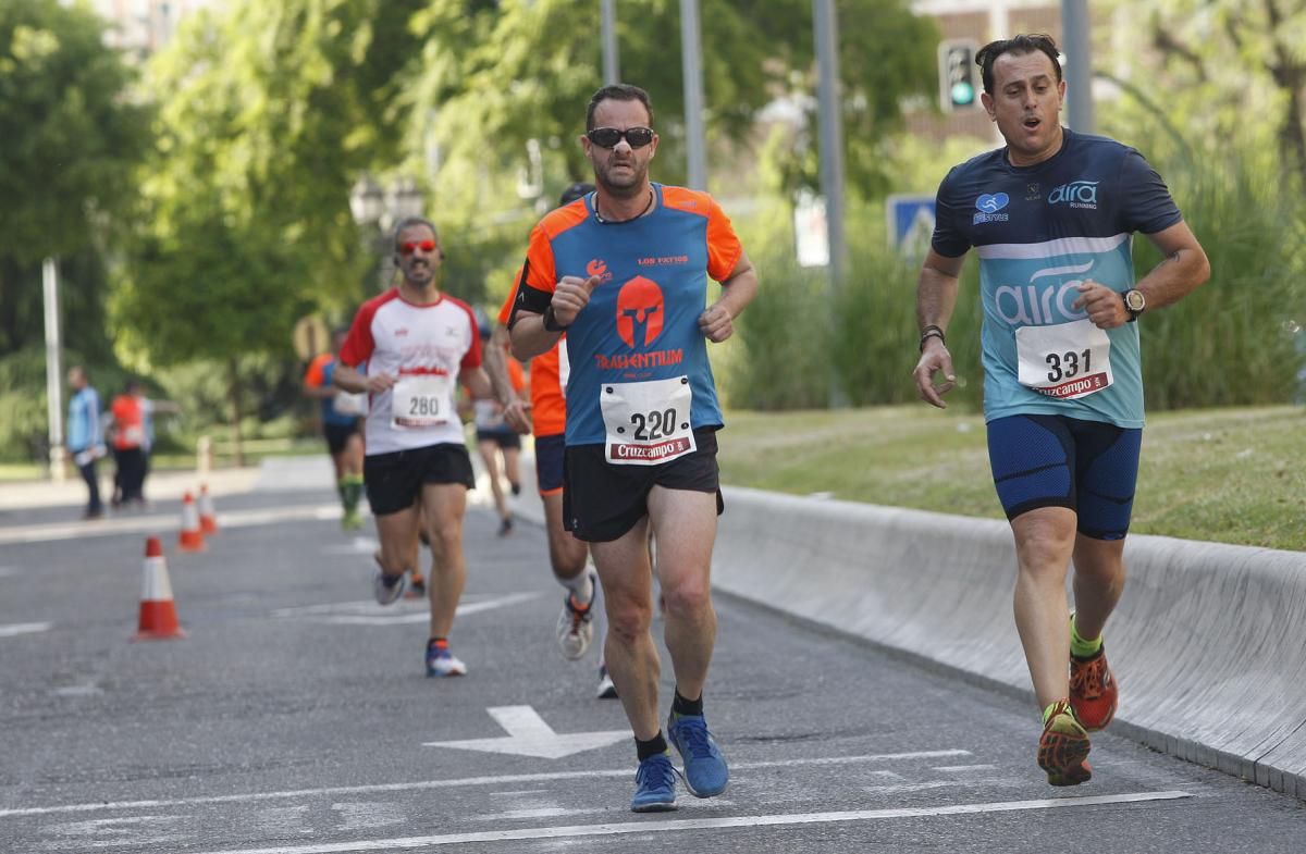
[[[707,341],[725,341],[757,290],[730,221],[707,193],[649,180],[657,151],[648,93],[599,89],[586,111],[593,195],[532,231],[509,321],[528,359],[567,333],[564,521],[590,552],[609,616],[605,659],[635,731],[631,808],[675,808],[667,736],[700,798],[729,770],[703,714],[716,640],[709,571],[722,509],[722,426]],[[708,277],[722,295],[707,306]],[[658,725],[660,661],[650,624],[648,534],[658,538],[675,697]]]

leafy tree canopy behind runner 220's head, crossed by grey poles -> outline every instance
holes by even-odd
[[[874,144],[901,123],[902,97],[932,91],[934,27],[900,0],[841,4],[849,180],[878,180]],[[529,140],[547,153],[547,182],[560,188],[588,175],[576,137],[602,82],[597,3],[432,0],[414,20],[427,33],[411,89],[410,150],[434,141],[436,189],[465,215],[520,206],[487,197],[487,175],[516,171]],[[774,99],[812,91],[810,0],[774,0],[757,13],[748,0],[701,4],[707,128],[730,159],[754,145],[754,120]],[[623,3],[618,14],[622,76],[649,90],[662,136],[658,178],[684,180],[684,104],[678,0]],[[795,158],[806,157],[799,151]],[[814,162],[815,154],[812,154]],[[811,170],[794,170],[802,180]],[[551,195],[551,191],[546,191]],[[445,208],[448,210],[448,208]]]

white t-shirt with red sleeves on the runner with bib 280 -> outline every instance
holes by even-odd
[[[481,336],[471,308],[441,294],[428,304],[405,300],[392,289],[358,309],[340,359],[367,363],[367,373],[397,383],[371,396],[367,456],[464,444],[457,413],[458,373],[481,366]]]

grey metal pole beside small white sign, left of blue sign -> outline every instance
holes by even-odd
[[[816,101],[820,110],[820,187],[825,197],[825,234],[829,242],[827,302],[833,323],[844,283],[848,249],[844,243],[844,99],[838,89],[838,22],[835,0],[812,0],[816,34]],[[831,406],[846,406],[833,367],[829,376]]]

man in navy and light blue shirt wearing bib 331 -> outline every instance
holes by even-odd
[[[1016,541],[1016,628],[1043,713],[1038,765],[1051,785],[1070,786],[1092,776],[1088,733],[1117,706],[1101,635],[1124,586],[1141,443],[1134,321],[1182,299],[1211,268],[1138,151],[1060,125],[1066,82],[1050,38],[993,42],[976,61],[1007,145],[939,187],[917,290],[916,384],[925,401],[946,405],[956,377],[944,330],[974,247],[989,458]],[[1134,232],[1164,256],[1138,282]]]

